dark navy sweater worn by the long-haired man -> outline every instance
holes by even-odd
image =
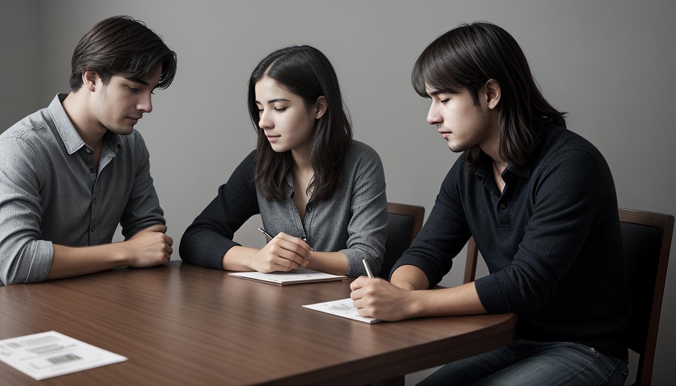
[[[498,191],[492,160],[468,173],[464,154],[429,219],[397,261],[441,281],[470,236],[490,274],[475,282],[489,313],[518,314],[516,337],[572,341],[627,357],[631,305],[617,196],[608,164],[579,135],[547,126],[524,166]]]

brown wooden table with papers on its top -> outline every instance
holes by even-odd
[[[488,351],[514,314],[366,324],[301,308],[349,280],[278,287],[181,262],[0,288],[0,339],[58,331],[128,361],[3,385],[360,385]]]

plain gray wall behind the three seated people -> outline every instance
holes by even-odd
[[[178,53],[172,86],[137,128],[176,247],[193,218],[255,147],[247,78],[273,49],[310,44],[331,59],[356,139],[381,155],[389,201],[431,210],[458,154],[425,122],[410,70],[439,34],[473,20],[506,28],[569,128],[605,155],[619,206],[676,214],[673,1],[3,1],[0,132],[68,91],[70,57],[95,22],[127,14]],[[253,218],[237,233],[260,246]],[[119,240],[119,235],[116,240]],[[675,254],[672,246],[671,254]],[[175,249],[178,251],[178,248]],[[462,283],[464,251],[444,285]],[[174,260],[178,259],[177,252]],[[672,259],[673,260],[673,259]],[[672,264],[673,266],[673,264]],[[676,277],[667,274],[654,383],[676,372]],[[479,274],[485,274],[479,266]],[[412,384],[422,374],[407,377]],[[631,377],[631,376],[630,376]]]

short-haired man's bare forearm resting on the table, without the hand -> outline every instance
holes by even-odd
[[[54,256],[46,280],[62,279],[125,266],[127,256],[116,245],[66,247],[54,244]]]

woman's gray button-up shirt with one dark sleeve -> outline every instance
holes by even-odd
[[[284,198],[267,201],[254,175],[256,151],[218,188],[218,196],[195,218],[180,241],[180,258],[208,268],[223,269],[223,256],[234,245],[233,235],[254,214],[261,215],[270,235],[279,232],[306,239],[315,251],[342,252],[347,276],[366,274],[362,259],[379,272],[387,240],[385,172],[370,146],[352,141],[345,154],[343,182],[327,200],[308,202],[303,220],[293,203],[294,179],[285,178]]]

